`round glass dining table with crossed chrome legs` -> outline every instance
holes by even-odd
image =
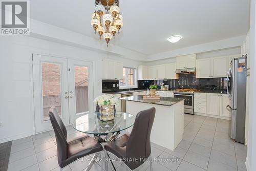
[[[115,112],[113,120],[102,121],[101,115],[102,114],[99,112],[86,113],[75,119],[73,127],[79,132],[91,134],[99,143],[101,143],[104,151],[105,143],[115,140],[121,131],[129,129],[134,125],[135,116],[125,112]],[[92,165],[97,161],[98,155],[99,153],[94,154],[86,170],[90,170]],[[112,166],[114,167],[113,163]]]

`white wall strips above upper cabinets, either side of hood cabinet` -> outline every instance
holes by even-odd
[[[218,56],[237,55],[240,53],[241,53],[241,47],[234,47],[234,48],[228,48],[228,49],[221,49],[221,50],[197,53],[197,59],[218,57]],[[154,66],[154,65],[161,65],[164,63],[172,63],[172,62],[176,62],[176,57],[145,62],[145,65]]]

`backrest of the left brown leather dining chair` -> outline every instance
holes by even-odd
[[[67,130],[55,107],[50,108],[49,117],[57,142],[58,163],[62,165],[63,161],[68,158]]]

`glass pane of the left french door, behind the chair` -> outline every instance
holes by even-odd
[[[42,75],[42,106],[44,121],[49,120],[48,111],[55,106],[61,115],[60,98],[60,65],[56,63],[41,62]]]

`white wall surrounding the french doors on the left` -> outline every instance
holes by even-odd
[[[137,68],[140,62],[25,36],[0,38],[0,143],[34,134],[32,54],[93,62],[94,97],[101,94],[102,59],[123,61]]]

